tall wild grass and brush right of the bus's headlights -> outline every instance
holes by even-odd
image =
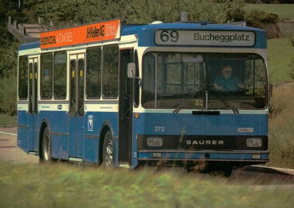
[[[269,121],[270,166],[294,168],[293,101],[294,86],[274,89]]]

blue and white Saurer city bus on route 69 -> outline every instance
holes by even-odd
[[[50,30],[19,47],[18,147],[44,163],[229,176],[269,161],[270,86],[262,29],[114,19]]]

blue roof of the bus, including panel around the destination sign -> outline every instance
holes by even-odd
[[[254,27],[221,25],[221,24],[200,24],[195,22],[178,22],[178,23],[160,23],[148,25],[136,24],[121,24],[121,36],[138,35],[139,46],[153,46],[158,45],[154,42],[154,33],[156,30],[191,30],[191,31],[232,31],[232,32],[254,32],[255,44],[249,48],[266,49],[266,31]],[[144,38],[140,38],[144,37]],[[175,45],[174,45],[175,46]],[[19,50],[27,50],[40,48],[40,41],[25,43],[20,45]]]

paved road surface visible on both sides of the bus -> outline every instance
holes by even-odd
[[[39,157],[28,155],[17,147],[17,128],[0,127],[0,162],[39,163]],[[294,187],[294,170],[265,166],[246,166],[234,169],[229,181],[256,182],[257,186],[281,184]]]

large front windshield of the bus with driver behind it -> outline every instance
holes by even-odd
[[[149,52],[142,106],[159,109],[264,109],[266,64],[253,53]]]

